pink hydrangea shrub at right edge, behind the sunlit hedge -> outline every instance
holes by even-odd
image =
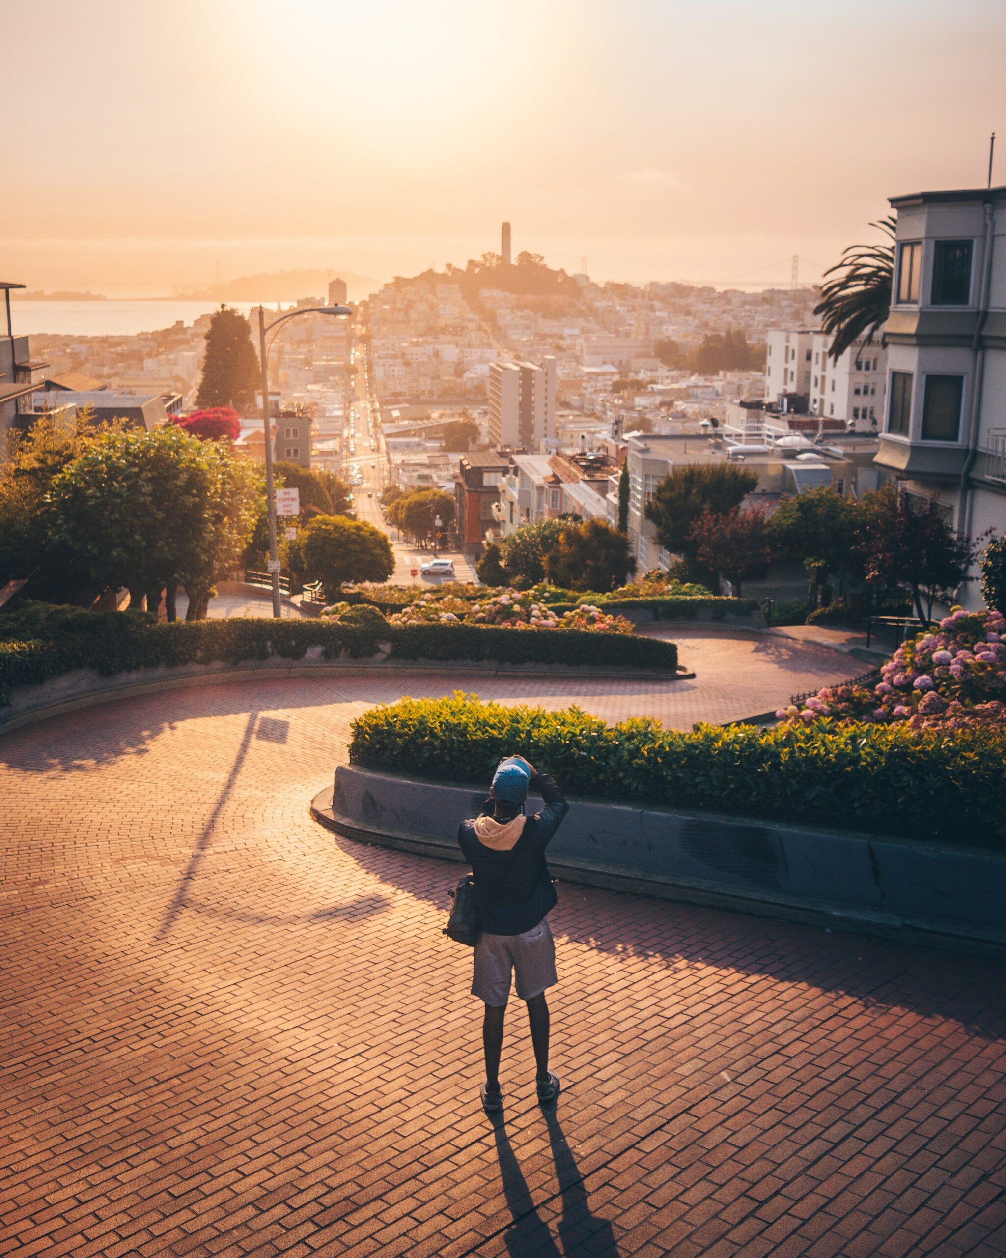
[[[780,721],[905,723],[912,730],[967,725],[1006,728],[1006,618],[954,608],[934,629],[903,643],[873,686],[825,687],[780,708]]]

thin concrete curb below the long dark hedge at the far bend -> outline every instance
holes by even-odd
[[[429,677],[456,677],[474,673],[480,677],[585,677],[611,681],[655,681],[674,683],[694,678],[694,673],[644,672],[641,669],[595,669],[587,664],[509,665],[479,660],[454,660],[450,663],[407,659],[285,659],[273,655],[265,660],[249,659],[239,664],[218,660],[213,664],[182,664],[177,668],[140,668],[136,673],[117,673],[103,677],[89,668],[75,669],[60,677],[49,678],[38,686],[14,688],[9,707],[0,708],[0,735],[19,730],[35,721],[77,712],[80,708],[109,703],[117,698],[137,694],[156,694],[160,691],[186,689],[191,686],[214,686],[218,682],[241,682],[249,678],[274,679],[283,677],[338,677],[345,673],[419,673]],[[30,693],[30,692],[34,692]],[[60,693],[62,692],[62,693]]]

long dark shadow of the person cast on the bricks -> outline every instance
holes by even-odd
[[[591,1258],[620,1258],[615,1234],[607,1219],[591,1214],[587,1204],[587,1190],[583,1176],[576,1165],[576,1159],[562,1132],[558,1115],[553,1108],[543,1111],[548,1126],[548,1142],[552,1146],[552,1160],[556,1164],[558,1193],[546,1198],[551,1203],[561,1198],[562,1215],[558,1220],[558,1240],[556,1244],[548,1224],[538,1214],[538,1206],[531,1198],[521,1165],[517,1161],[507,1135],[502,1115],[493,1116],[493,1136],[499,1159],[499,1172],[503,1177],[503,1191],[513,1224],[503,1233],[507,1253],[513,1258],[576,1258],[583,1253],[583,1245],[590,1242]]]

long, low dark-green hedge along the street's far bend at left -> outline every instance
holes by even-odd
[[[392,659],[495,660],[506,664],[592,664],[673,671],[678,648],[673,643],[622,634],[583,630],[499,629],[478,625],[414,625],[404,628],[333,624],[326,620],[192,620],[156,624],[145,613],[112,611],[93,615],[79,609],[57,609],[62,616],[26,620],[35,637],[0,638],[0,706],[11,687],[44,682],[75,668],[104,676],[131,673],[158,664],[238,663],[301,659],[311,647],[324,658],[353,659],[376,654],[391,643]],[[0,618],[3,624],[3,618]]]

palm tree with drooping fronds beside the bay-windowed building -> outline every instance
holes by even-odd
[[[882,219],[870,226],[885,233],[890,243],[844,249],[841,262],[825,272],[821,299],[814,307],[815,314],[824,316],[822,330],[832,333],[829,357],[836,362],[860,336],[870,345],[890,313],[897,219]]]

